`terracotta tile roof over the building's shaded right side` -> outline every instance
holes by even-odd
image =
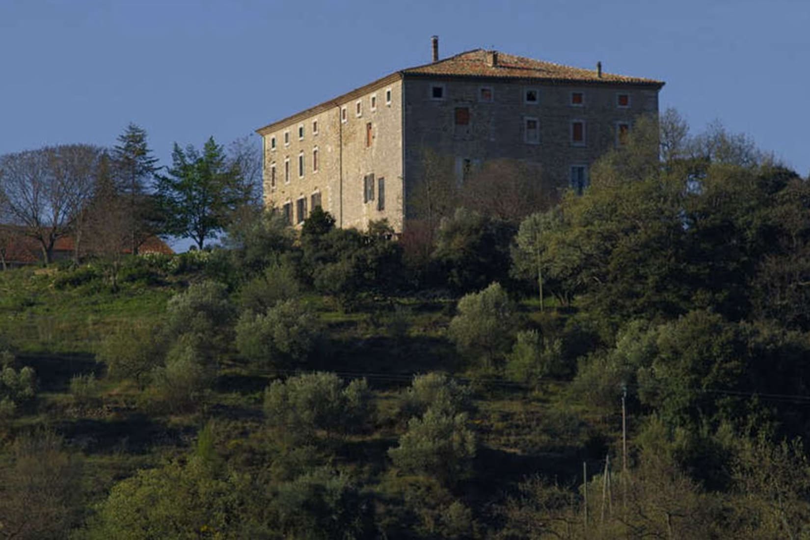
[[[563,66],[501,52],[497,52],[497,62],[491,65],[487,62],[488,54],[492,53],[484,49],[475,49],[424,66],[411,67],[403,70],[403,73],[406,75],[543,79],[558,82],[636,83],[663,86],[662,81],[654,79],[628,77],[626,75],[605,73],[604,71],[602,76],[599,77],[596,70],[583,70],[578,67]]]

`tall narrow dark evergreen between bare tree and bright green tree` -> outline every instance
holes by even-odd
[[[130,122],[118,135],[113,148],[117,189],[127,202],[127,220],[130,229],[130,249],[138,253],[139,246],[153,232],[150,226],[154,205],[149,195],[149,182],[157,171],[158,159],[147,144],[147,132]]]

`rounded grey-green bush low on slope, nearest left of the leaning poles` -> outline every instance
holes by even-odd
[[[399,447],[388,455],[399,469],[438,478],[452,486],[471,472],[475,434],[467,427],[467,414],[428,409],[421,419],[408,422]]]

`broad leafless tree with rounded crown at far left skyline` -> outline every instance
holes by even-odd
[[[0,156],[0,204],[40,244],[45,263],[56,241],[80,224],[100,154],[98,147],[64,145]]]

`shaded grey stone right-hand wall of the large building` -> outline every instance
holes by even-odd
[[[595,159],[616,145],[616,125],[630,125],[642,114],[658,113],[658,91],[650,87],[621,85],[561,85],[486,79],[405,79],[406,201],[424,176],[425,149],[441,156],[449,175],[458,176],[463,164],[494,159],[515,159],[539,164],[542,187],[554,199],[569,186],[573,165],[590,167]],[[443,98],[432,88],[444,87]],[[481,99],[481,89],[492,100]],[[525,91],[535,88],[538,102],[527,104]],[[571,102],[572,92],[582,92],[582,104]],[[617,95],[629,95],[629,106],[619,107]],[[469,125],[457,125],[456,108],[468,108]],[[527,117],[539,121],[539,142],[526,142]],[[584,121],[584,143],[572,142],[572,121]],[[435,157],[433,159],[436,159]],[[408,209],[408,215],[412,214]]]

